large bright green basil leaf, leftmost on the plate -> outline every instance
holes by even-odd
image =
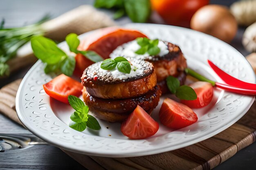
[[[43,36],[32,38],[31,47],[36,57],[47,64],[56,64],[67,56],[53,40]]]

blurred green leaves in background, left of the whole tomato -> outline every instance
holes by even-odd
[[[150,0],[95,0],[94,7],[117,9],[114,19],[127,14],[132,22],[146,22],[151,13]]]

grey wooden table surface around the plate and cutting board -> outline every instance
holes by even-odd
[[[211,3],[229,6],[236,0],[211,0]],[[0,0],[0,19],[4,18],[7,27],[22,26],[39,20],[46,13],[52,18],[69,11],[81,4],[92,4],[93,0]],[[103,10],[106,11],[106,10]],[[108,15],[112,12],[106,11]],[[128,18],[117,20],[118,24],[129,23]],[[244,28],[239,28],[236,38],[231,43],[240,53],[247,55],[241,44]],[[29,68],[22,69],[16,75],[0,81],[0,87],[22,78]],[[30,133],[20,125],[0,115],[0,133]],[[256,166],[256,143],[239,151],[214,170],[254,170]],[[23,150],[0,152],[0,169],[14,170],[84,170],[79,163],[67,156],[62,150],[51,145],[33,146]]]

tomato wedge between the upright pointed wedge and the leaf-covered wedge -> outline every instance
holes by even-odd
[[[159,119],[164,126],[180,129],[195,123],[198,117],[188,106],[166,98],[159,110]]]

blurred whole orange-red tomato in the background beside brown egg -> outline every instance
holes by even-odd
[[[193,14],[210,0],[151,0],[153,9],[167,24],[189,28]]]

